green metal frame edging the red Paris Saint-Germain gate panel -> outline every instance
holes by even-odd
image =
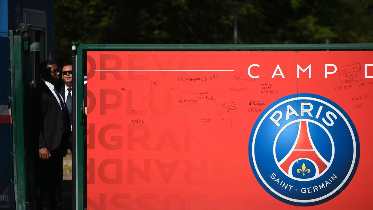
[[[373,44],[81,44],[72,43],[73,90],[75,108],[73,115],[73,137],[75,152],[73,156],[73,206],[83,210],[83,70],[87,63],[83,59],[87,51],[338,51],[373,50]],[[75,50],[76,49],[76,50]],[[78,126],[77,126],[78,125]],[[79,126],[81,125],[81,126]],[[79,199],[80,198],[80,199]]]

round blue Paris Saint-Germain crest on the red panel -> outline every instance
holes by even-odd
[[[314,206],[350,183],[360,144],[341,107],[303,93],[280,98],[261,113],[248,150],[251,169],[270,195],[287,204]]]

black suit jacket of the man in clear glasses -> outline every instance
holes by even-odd
[[[33,90],[33,110],[34,138],[38,148],[55,150],[61,146],[66,149],[70,130],[64,125],[63,113],[56,97],[43,81]],[[66,106],[65,110],[69,113]],[[68,116],[66,123],[70,124]]]

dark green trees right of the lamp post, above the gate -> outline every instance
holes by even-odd
[[[253,0],[239,20],[241,43],[373,41],[372,0]]]

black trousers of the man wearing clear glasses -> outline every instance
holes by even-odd
[[[60,146],[49,152],[52,156],[49,160],[38,158],[36,161],[36,187],[40,188],[40,197],[36,203],[37,210],[60,210],[62,208],[64,150]]]

